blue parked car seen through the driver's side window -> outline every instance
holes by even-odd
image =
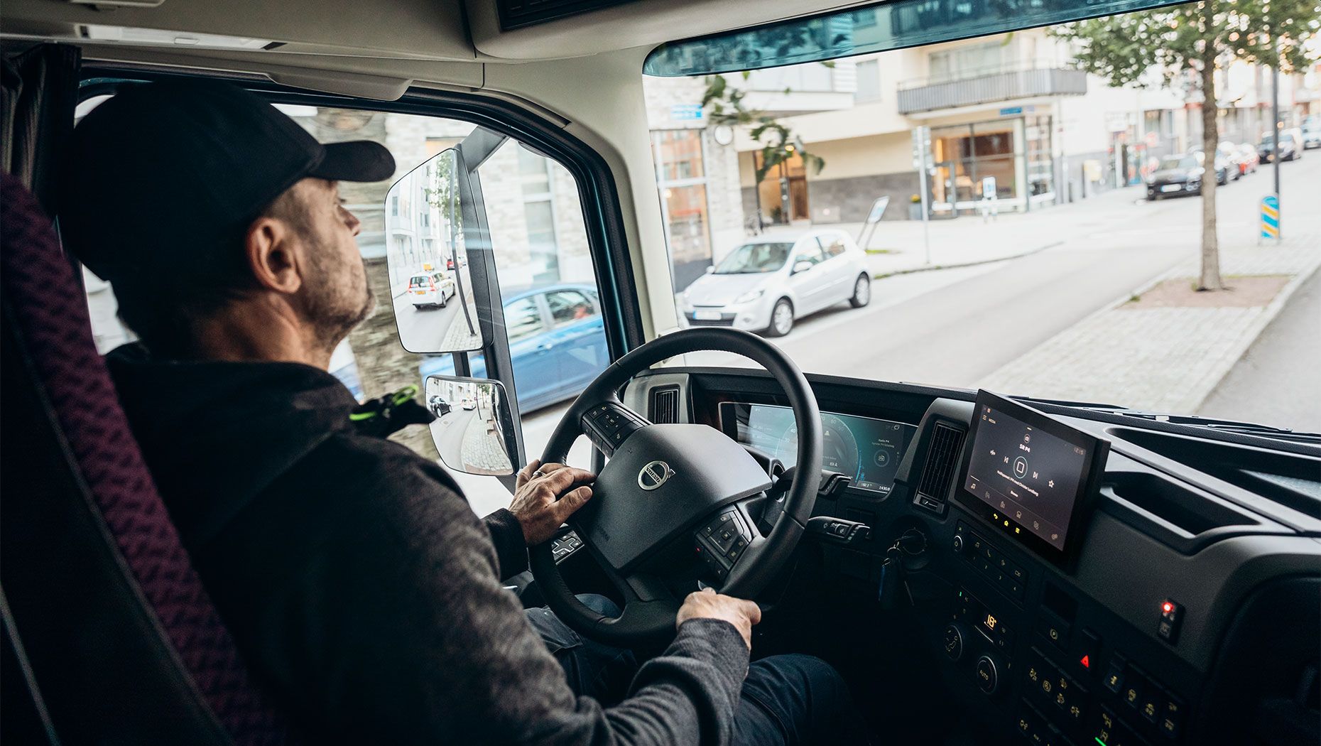
[[[577,396],[610,363],[594,285],[511,290],[503,306],[519,412]],[[486,376],[481,354],[469,355],[469,364],[472,375]],[[423,358],[419,372],[424,386],[429,375],[454,375],[454,359]]]

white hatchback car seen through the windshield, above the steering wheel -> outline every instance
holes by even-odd
[[[841,301],[872,300],[867,255],[839,230],[758,236],[731,251],[679,296],[690,326],[733,326],[783,337],[802,318]]]

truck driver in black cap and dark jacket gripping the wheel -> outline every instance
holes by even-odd
[[[226,83],[162,82],[87,115],[67,162],[65,244],[140,338],[108,355],[133,433],[247,663],[316,741],[860,739],[827,664],[749,665],[749,601],[688,595],[641,667],[524,614],[501,578],[593,474],[534,462],[478,519],[437,463],[351,425],[326,368],[373,297],[337,182],[390,178],[383,147],[318,144]]]

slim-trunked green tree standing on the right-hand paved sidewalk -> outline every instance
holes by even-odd
[[[1067,24],[1053,32],[1077,44],[1082,70],[1115,86],[1140,86],[1159,77],[1202,99],[1202,269],[1197,288],[1223,288],[1215,235],[1215,149],[1219,144],[1215,69],[1234,61],[1303,73],[1308,40],[1321,26],[1317,0],[1202,0]],[[1275,124],[1279,127],[1279,123]]]

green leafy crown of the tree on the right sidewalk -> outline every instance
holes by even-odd
[[[1304,71],[1317,50],[1308,40],[1321,30],[1317,0],[1202,0],[1066,24],[1052,33],[1077,42],[1077,63],[1116,86],[1160,75],[1177,85],[1211,55]]]

